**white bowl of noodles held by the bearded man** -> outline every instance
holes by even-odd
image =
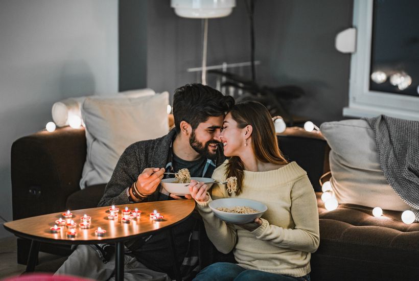
[[[189,183],[191,183],[191,179],[200,182],[214,182],[212,178],[191,177],[188,169],[181,169],[175,173],[174,178],[162,179],[160,184],[167,192],[174,195],[183,196],[191,194],[189,192]],[[209,183],[207,185],[208,188],[211,188],[213,183]]]

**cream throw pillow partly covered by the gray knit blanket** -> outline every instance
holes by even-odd
[[[388,184],[380,167],[374,131],[365,120],[326,122],[320,131],[331,148],[331,183],[339,203],[410,209]]]

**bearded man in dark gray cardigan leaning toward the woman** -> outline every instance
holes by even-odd
[[[232,97],[208,86],[188,84],[176,89],[175,128],[163,137],[134,143],[124,151],[99,206],[180,199],[161,188],[165,171],[187,168],[192,177],[211,177],[216,166],[224,161],[219,135],[224,114],[232,105]],[[182,276],[191,276],[191,271],[198,266],[196,245],[190,243],[197,222],[191,216],[172,229]],[[130,250],[125,255],[126,279],[174,277],[174,261],[167,254],[167,235],[163,231],[126,243]],[[56,274],[108,279],[114,266],[113,254],[107,254],[109,249],[103,245],[79,246]],[[106,263],[108,260],[111,262]]]

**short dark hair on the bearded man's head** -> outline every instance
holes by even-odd
[[[180,122],[188,122],[195,130],[199,123],[211,116],[225,114],[234,105],[234,99],[220,91],[202,84],[187,84],[175,90],[173,96],[173,116],[176,132],[180,132]]]

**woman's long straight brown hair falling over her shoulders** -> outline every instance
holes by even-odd
[[[268,109],[259,102],[247,101],[234,105],[229,111],[240,129],[251,125],[252,147],[256,158],[265,163],[285,165],[288,161],[278,147],[275,127]],[[240,157],[232,156],[227,163],[226,177],[237,177],[236,195],[242,192],[244,165]]]

